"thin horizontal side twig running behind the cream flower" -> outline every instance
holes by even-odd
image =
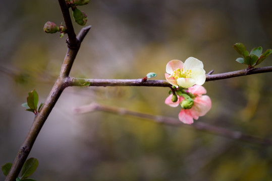
[[[243,69],[226,73],[217,73],[213,75],[206,74],[206,81],[220,80],[226,78],[232,78],[237,76],[251,75],[256,73],[271,72],[272,66],[266,66],[261,68]],[[75,78],[67,77],[68,86],[160,86],[169,87],[166,80],[146,80],[142,81],[142,78],[138,79],[87,79],[87,78]]]

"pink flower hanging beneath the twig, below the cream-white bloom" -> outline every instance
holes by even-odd
[[[179,120],[185,124],[192,124],[193,119],[197,120],[200,116],[204,116],[211,108],[211,100],[206,94],[206,89],[201,85],[194,85],[188,88],[188,92],[195,96],[194,105],[191,109],[182,109],[179,113]],[[173,103],[171,101],[172,95],[170,95],[165,103],[171,107],[177,107],[184,98],[178,96],[178,101]]]

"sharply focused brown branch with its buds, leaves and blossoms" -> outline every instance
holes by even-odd
[[[245,70],[238,70],[234,72],[227,72],[221,74],[214,74],[210,75],[205,74],[205,70],[203,69],[203,63],[193,57],[189,57],[184,63],[180,60],[172,60],[167,64],[166,80],[148,80],[148,78],[155,77],[155,73],[150,72],[144,78],[140,79],[82,79],[82,78],[75,78],[69,77],[70,70],[72,68],[73,62],[76,58],[78,50],[80,48],[80,44],[83,41],[85,35],[88,33],[90,26],[81,29],[78,36],[76,36],[74,32],[74,28],[72,25],[69,8],[72,8],[72,15],[75,22],[79,25],[85,25],[87,21],[87,16],[84,12],[81,12],[76,8],[76,6],[82,6],[89,3],[89,0],[59,0],[59,4],[63,13],[65,27],[59,26],[56,27],[56,24],[52,22],[47,22],[45,25],[45,32],[46,33],[56,33],[60,31],[61,37],[64,34],[68,34],[67,44],[68,50],[66,56],[64,58],[63,65],[61,67],[61,71],[59,74],[58,79],[56,80],[55,84],[53,85],[51,92],[49,93],[46,101],[44,102],[42,108],[37,112],[36,106],[34,106],[35,118],[33,124],[28,132],[27,137],[25,138],[21,148],[19,149],[16,158],[10,168],[10,171],[6,177],[6,181],[8,180],[16,180],[19,172],[26,161],[27,156],[29,155],[32,146],[43,126],[45,120],[47,119],[48,115],[50,114],[51,110],[55,106],[56,102],[58,101],[59,97],[61,96],[63,90],[68,86],[163,86],[163,87],[172,87],[172,93],[174,99],[171,100],[167,98],[166,103],[168,105],[181,105],[182,110],[179,114],[179,119],[187,124],[191,124],[193,119],[198,119],[199,116],[205,115],[211,107],[211,101],[208,96],[204,95],[206,93],[204,87],[201,85],[205,81],[209,80],[217,80],[217,79],[224,79],[224,78],[231,78],[235,76],[242,76],[242,75],[249,75],[254,73],[262,73],[272,71],[272,66],[270,67],[262,67],[262,68],[254,68],[254,66],[263,61],[269,54],[272,53],[272,50],[266,51],[264,54],[260,54],[260,50],[254,50],[253,53],[260,54],[258,56],[259,62],[253,62],[256,59],[255,56],[252,58],[248,58],[245,55],[245,60],[239,59],[238,62],[250,64],[249,68]],[[244,49],[237,46],[238,52],[244,55]],[[263,55],[263,56],[261,56]],[[257,56],[257,55],[256,55]],[[264,58],[262,58],[264,57]],[[256,59],[257,60],[257,59]],[[183,90],[184,88],[188,88],[187,91]],[[147,116],[148,117],[148,116]],[[152,116],[150,116],[152,118]],[[160,118],[160,117],[159,117]],[[164,118],[162,118],[164,119]],[[167,121],[170,123],[171,121]],[[180,124],[180,123],[179,123]],[[177,123],[175,123],[177,125]],[[201,125],[198,123],[197,129],[206,130],[208,129],[207,126]],[[197,127],[194,125],[193,127]],[[187,125],[189,126],[189,125]],[[216,130],[215,127],[212,128]],[[215,131],[219,132],[219,131]],[[228,132],[224,129],[220,130],[220,132],[226,135],[232,135],[232,137],[237,137],[240,139],[245,140],[254,140],[252,137],[248,136],[241,136],[240,132]]]

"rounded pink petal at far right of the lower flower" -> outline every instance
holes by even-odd
[[[211,108],[211,100],[208,96],[196,97],[191,108],[193,116],[204,116]]]

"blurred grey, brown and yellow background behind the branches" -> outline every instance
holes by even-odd
[[[172,59],[203,61],[206,72],[246,68],[232,48],[272,48],[269,0],[105,0],[79,7],[92,28],[71,76],[164,79]],[[34,115],[21,107],[34,88],[46,99],[58,77],[66,37],[45,34],[47,21],[63,22],[58,1],[5,1],[0,6],[0,164],[13,162]],[[75,31],[82,27],[75,24]],[[272,65],[268,57],[258,65]],[[271,73],[204,84],[212,109],[199,122],[272,139]],[[178,117],[164,104],[166,87],[69,87],[45,122],[29,157],[43,180],[272,180],[272,147],[175,128],[140,118],[93,112],[98,102]],[[4,180],[4,175],[0,174]]]

